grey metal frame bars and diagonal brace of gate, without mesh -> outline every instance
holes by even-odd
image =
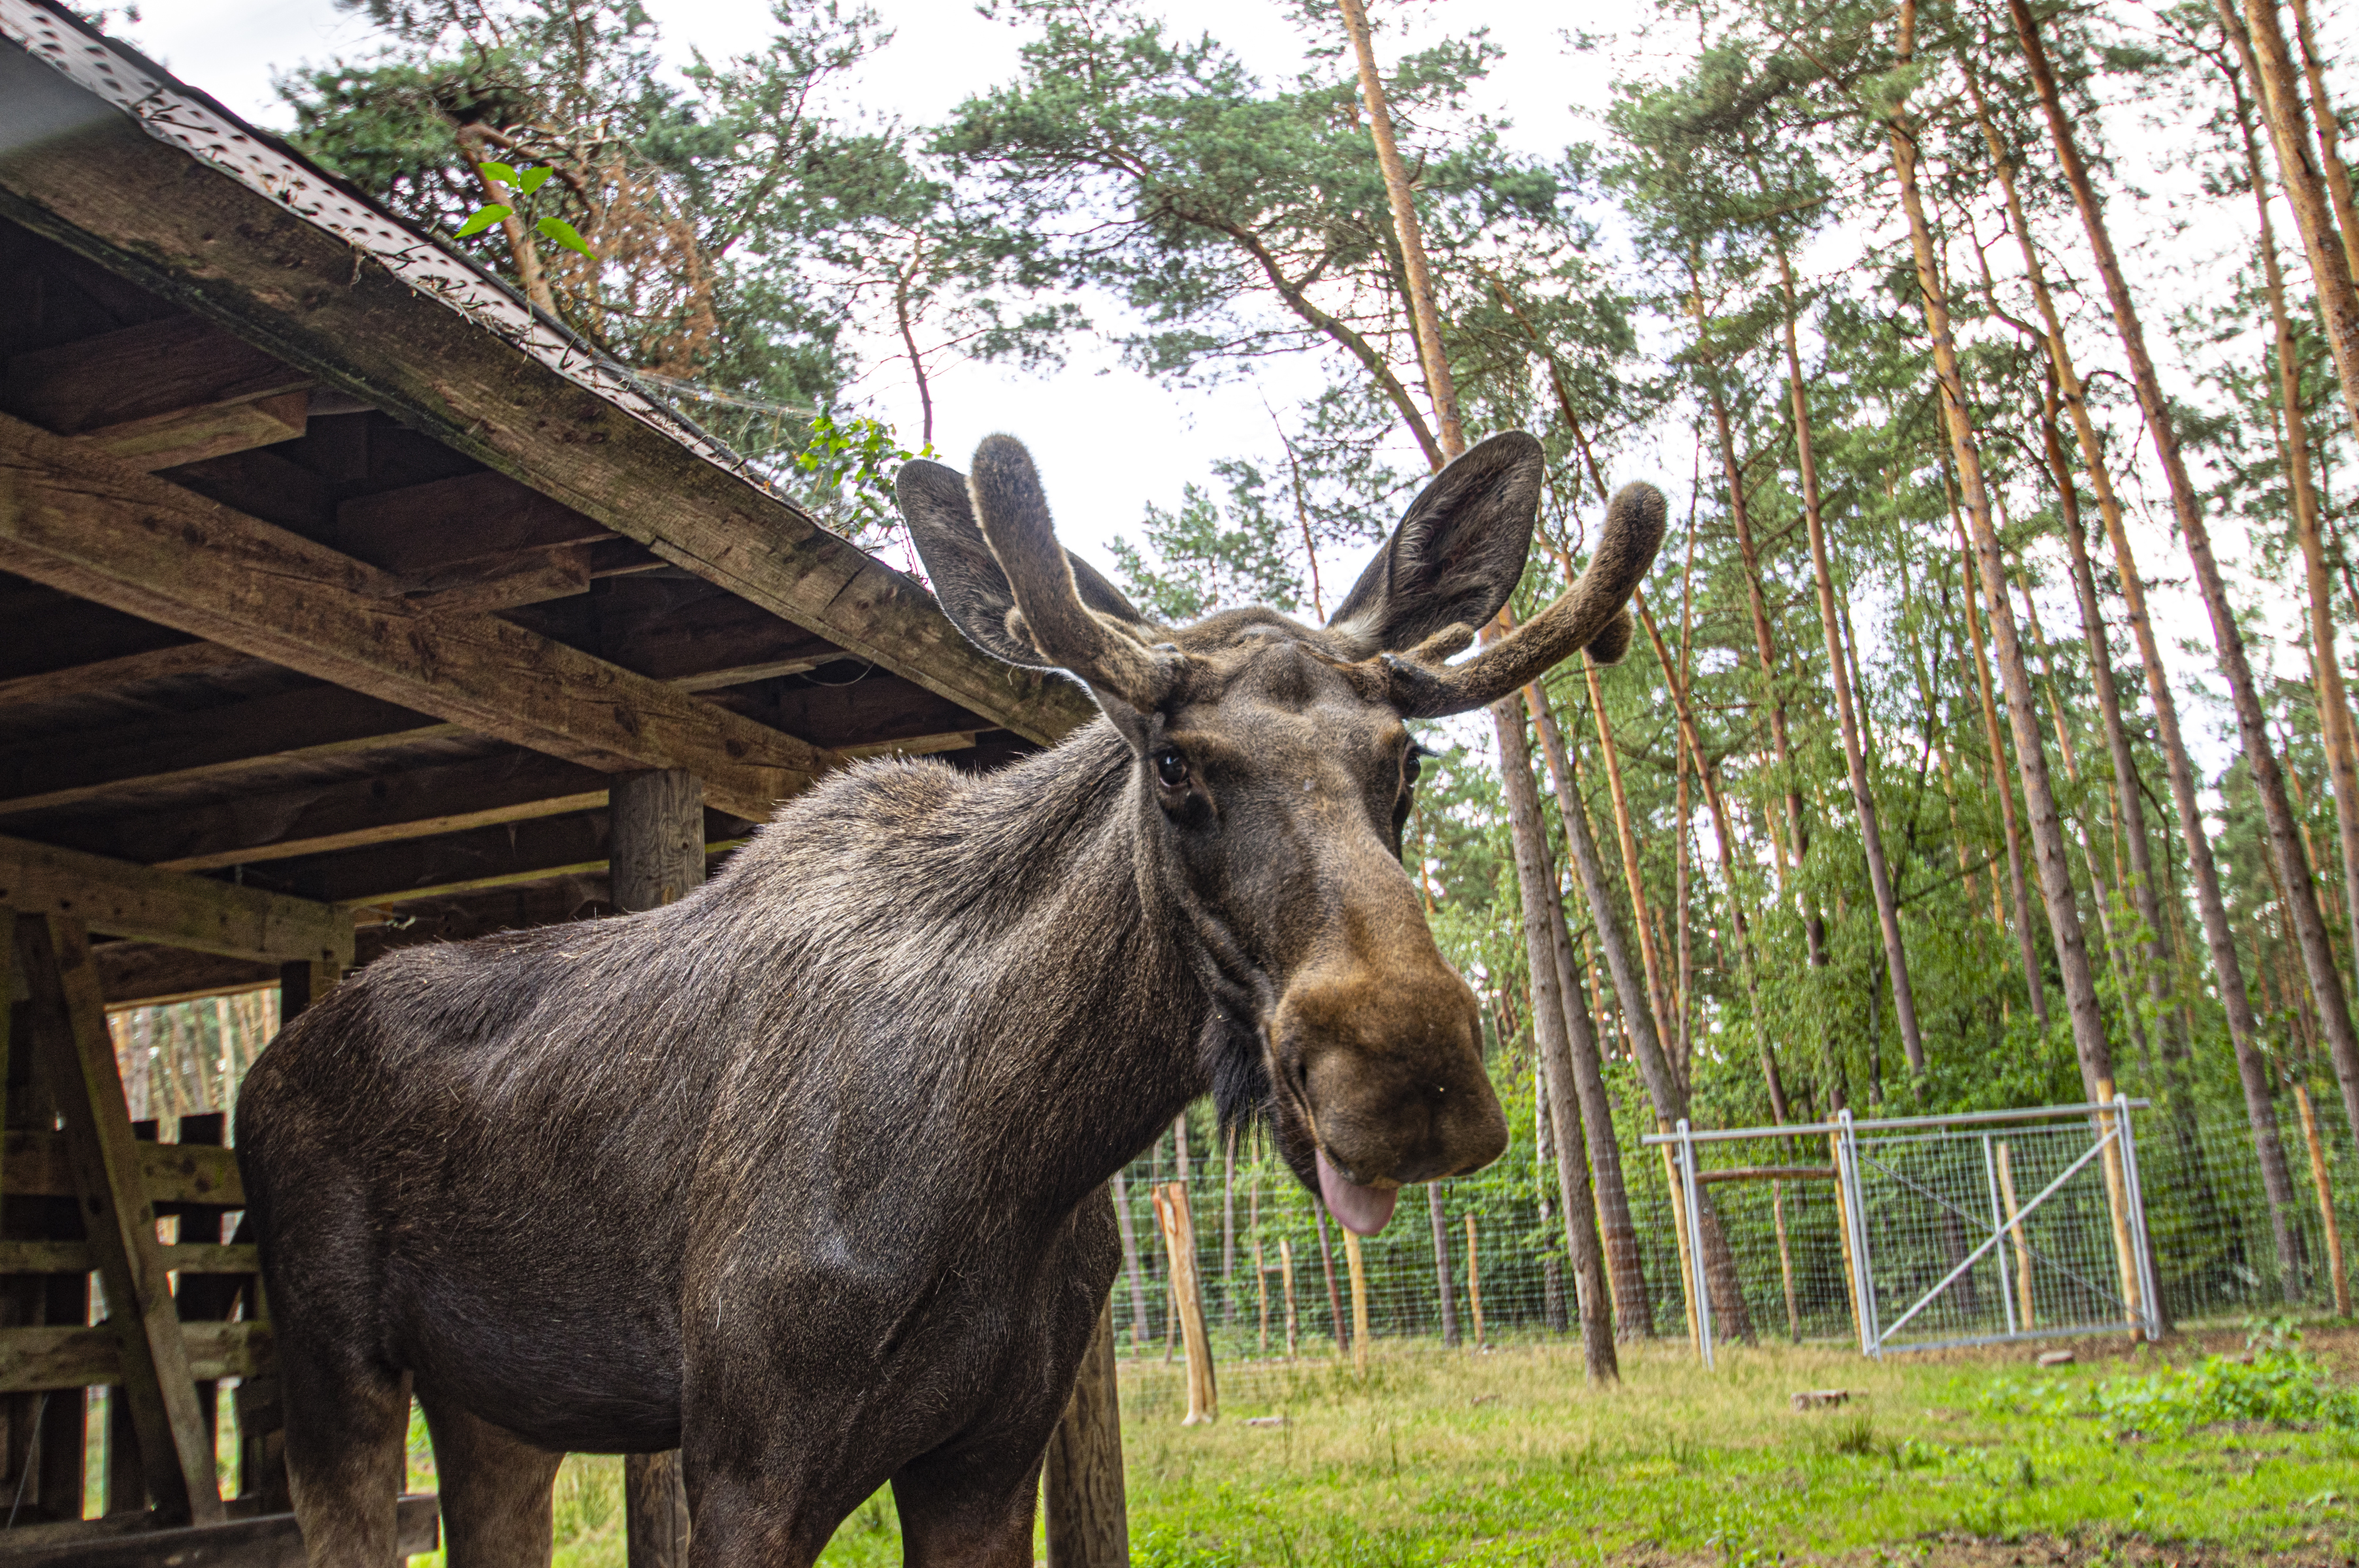
[[[1956,1115],[1890,1115],[1857,1120],[1849,1111],[1838,1111],[1828,1122],[1786,1122],[1772,1127],[1720,1127],[1708,1132],[1696,1132],[1684,1118],[1670,1132],[1642,1134],[1640,1144],[1668,1146],[1677,1167],[1677,1200],[1682,1219],[1687,1224],[1687,1236],[1696,1238],[1687,1247],[1687,1257],[1680,1269],[1680,1287],[1687,1299],[1696,1306],[1696,1353],[1706,1368],[1713,1368],[1713,1292],[1706,1273],[1701,1243],[1701,1188],[1706,1174],[1696,1165],[1698,1144],[1739,1144],[1757,1139],[1786,1139],[1786,1137],[1826,1137],[1835,1151],[1835,1184],[1842,1193],[1842,1228],[1845,1245],[1852,1252],[1852,1323],[1859,1327],[1859,1353],[1873,1361],[1882,1361],[1887,1351],[1937,1351],[1956,1349],[1967,1344],[2010,1344],[2022,1339],[2064,1339],[2074,1335],[2111,1335],[2130,1332],[2133,1337],[2161,1339],[2161,1299],[2154,1278],[2154,1247],[2147,1238],[2147,1203],[2137,1181],[2137,1134],[2133,1129],[2133,1111],[2149,1111],[2154,1101],[2130,1099],[2128,1094],[2114,1094],[2107,1101],[2088,1101],[2078,1106],[2024,1106],[2015,1111],[1965,1111]],[[1859,1134],[1882,1134],[1882,1132],[1951,1132],[1960,1127],[1991,1127],[2012,1122],[2064,1122],[2074,1118],[2088,1118],[2095,1129],[2095,1139],[2088,1151],[2083,1151],[2071,1165],[2064,1167],[2048,1186],[2043,1186],[2031,1200],[2022,1203],[2015,1219],[2008,1221],[1996,1203],[1996,1177],[1991,1177],[1993,1207],[1991,1207],[1991,1233],[1965,1254],[1949,1273],[1941,1276],[1930,1290],[1925,1290],[1901,1316],[1892,1320],[1890,1327],[1880,1325],[1875,1313],[1875,1261],[1868,1250],[1868,1221],[1866,1221],[1866,1188],[1859,1179]],[[2137,1302],[2123,1304],[2125,1316],[2121,1323],[2081,1323],[2071,1327],[2043,1327],[2022,1330],[2015,1325],[2015,1297],[2008,1292],[2008,1257],[2005,1238],[2024,1219],[2031,1217],[2043,1203],[2055,1198],[2066,1181],[2071,1181],[2090,1162],[2097,1162],[2107,1148],[2121,1151],[2121,1205],[2123,1226],[2130,1240],[2130,1264],[2137,1280]],[[1989,1137],[1984,1137],[1984,1165],[1989,1165]],[[1951,1207],[1960,1219],[1974,1221],[1972,1214],[1946,1205],[1946,1200],[1934,1198]],[[1956,1339],[1927,1339],[1923,1344],[1890,1344],[1890,1337],[1932,1304],[1944,1290],[1949,1290],[1958,1278],[1972,1269],[1984,1252],[1998,1257],[2000,1297],[2008,1311],[2008,1332],[2003,1335],[1963,1335]],[[2118,1299],[2118,1297],[2116,1297]]]

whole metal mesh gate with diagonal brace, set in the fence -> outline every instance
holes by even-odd
[[[1741,1236],[1708,1212],[1722,1184],[1828,1179],[1842,1294],[1864,1356],[2062,1335],[2161,1335],[2133,1113],[2149,1101],[1651,1134],[1670,1153],[1680,1273],[1703,1363],[1713,1278],[1746,1292]],[[1826,1165],[1776,1165],[1765,1146]],[[1753,1162],[1732,1162],[1732,1158]],[[1732,1191],[1732,1188],[1722,1188]],[[1828,1188],[1819,1188],[1828,1191]],[[1779,1264],[1793,1266],[1783,1212]]]

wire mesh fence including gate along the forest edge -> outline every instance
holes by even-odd
[[[2092,1118],[2081,1115],[1951,1134],[1859,1137],[1859,1224],[1885,1349],[2045,1337],[2128,1320],[2125,1294],[2137,1294],[2137,1276],[2125,1269],[2135,1269],[2135,1259],[2116,1245],[2104,1160],[2085,1158],[2090,1127]],[[2291,1203],[2272,1217],[2253,1127],[2239,1108],[2135,1113],[2137,1198],[2166,1323],[2333,1309],[2314,1170],[2333,1195],[2338,1236],[2352,1236],[2359,1162],[2350,1129],[2317,1118],[2312,1165],[2305,1125],[2288,1099],[2281,1148]],[[2069,1172],[2074,1160],[2083,1162]],[[1857,1259],[1845,1257],[1833,1170],[1824,1134],[1717,1144],[1698,1155],[1706,1226],[1724,1238],[1727,1257],[1727,1278],[1713,1292],[1720,1344],[1762,1337],[1861,1344],[1852,1290]],[[1621,1172],[1644,1294],[1616,1304],[1618,1332],[1691,1335],[1675,1160],[1625,1129]],[[1125,1356],[1180,1353],[1168,1245],[1151,1200],[1156,1186],[1175,1181],[1165,1144],[1116,1184],[1128,1228],[1113,1325]],[[1283,1356],[1288,1323],[1297,1353],[1333,1353],[1347,1344],[1354,1313],[1349,1245],[1333,1219],[1319,1224],[1319,1205],[1293,1172],[1248,1141],[1234,1165],[1217,1153],[1194,1160],[1180,1186],[1217,1358]],[[1531,1148],[1529,1132],[1479,1177],[1404,1191],[1382,1236],[1356,1245],[1371,1337],[1453,1335],[1472,1344],[1477,1304],[1481,1335],[1491,1342],[1571,1332],[1571,1276],[1552,1200],[1555,1172]],[[2279,1264],[2274,1221],[2286,1228],[2291,1271]],[[1986,1245],[1993,1231],[2000,1238]],[[1967,1261],[1977,1247],[1979,1257]],[[1951,1273],[1949,1287],[1918,1306]],[[1911,1309],[1916,1313],[1901,1320]]]

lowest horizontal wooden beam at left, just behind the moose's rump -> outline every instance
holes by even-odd
[[[229,957],[351,962],[351,915],[326,903],[9,837],[0,908]]]

